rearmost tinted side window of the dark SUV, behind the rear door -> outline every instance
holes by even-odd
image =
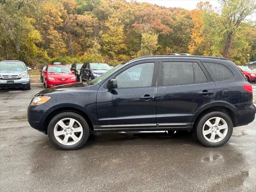
[[[208,70],[210,76],[214,81],[224,80],[233,77],[232,72],[222,64],[204,62],[204,66]]]

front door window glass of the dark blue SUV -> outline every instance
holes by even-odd
[[[154,63],[132,66],[116,76],[118,88],[148,87],[152,85]]]

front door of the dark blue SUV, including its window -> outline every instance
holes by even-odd
[[[140,61],[114,74],[118,87],[100,86],[97,116],[100,130],[150,130],[156,128],[158,60]]]

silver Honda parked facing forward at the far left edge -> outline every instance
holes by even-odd
[[[0,88],[24,88],[30,90],[30,76],[24,62],[18,60],[0,61]]]

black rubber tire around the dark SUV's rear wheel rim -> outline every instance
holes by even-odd
[[[204,135],[203,135],[203,126],[205,124],[205,122],[207,120],[209,120],[210,118],[213,118],[213,117],[220,117],[222,119],[224,119],[228,125],[228,132],[226,134],[226,136],[219,142],[210,142],[208,140],[206,140],[206,138],[204,138]],[[194,132],[196,134],[196,137],[198,138],[198,140],[204,145],[204,146],[207,146],[207,147],[218,147],[218,146],[221,146],[223,144],[225,144],[231,137],[232,135],[232,132],[233,132],[233,123],[232,123],[232,120],[230,119],[230,117],[223,113],[223,112],[220,112],[220,111],[214,111],[214,112],[210,112],[208,114],[205,114],[204,116],[202,116],[202,118],[199,120],[197,126],[196,126],[196,131]]]

